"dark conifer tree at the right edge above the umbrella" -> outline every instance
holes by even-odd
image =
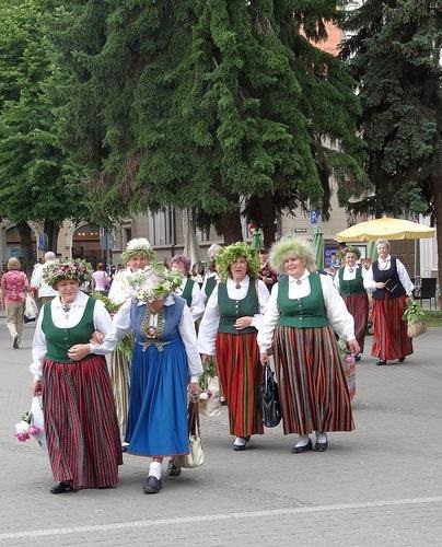
[[[350,12],[344,56],[359,83],[367,172],[376,217],[429,212],[442,287],[442,3],[367,0]]]

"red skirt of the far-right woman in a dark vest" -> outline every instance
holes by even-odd
[[[371,354],[392,360],[412,353],[412,341],[407,336],[407,324],[403,319],[406,296],[385,300],[373,299],[374,336]]]

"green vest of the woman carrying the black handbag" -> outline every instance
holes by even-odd
[[[278,281],[279,325],[283,327],[325,327],[328,325],[324,305],[319,274],[309,276],[310,294],[301,299],[289,299],[289,278]],[[307,282],[306,280],[303,281]]]

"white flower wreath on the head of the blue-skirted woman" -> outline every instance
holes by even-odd
[[[178,289],[184,277],[159,263],[128,278],[132,295],[140,302],[166,298]]]

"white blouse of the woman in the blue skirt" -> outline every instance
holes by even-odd
[[[170,306],[172,304],[174,304],[173,298],[172,296],[166,298],[166,300],[164,301],[164,305]],[[142,302],[139,302],[138,305],[142,305]],[[117,329],[118,339],[123,338],[127,333],[131,330],[130,306],[131,306],[131,300],[128,300],[114,315],[113,321]],[[156,327],[156,325],[158,325],[158,315],[151,314],[149,326]],[[190,382],[198,382],[198,377],[202,372],[202,364],[197,347],[197,335],[195,333],[194,319],[191,317],[190,310],[188,309],[187,305],[183,307],[183,314],[179,321],[178,331],[183,339],[184,347],[186,348]]]

